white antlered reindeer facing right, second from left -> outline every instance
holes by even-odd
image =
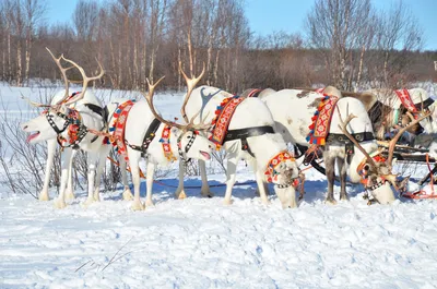
[[[194,115],[188,124],[180,124],[175,121],[165,120],[156,111],[153,105],[153,96],[156,85],[163,79],[158,80],[156,84],[150,84],[147,80],[149,93],[143,94],[145,101],[140,100],[133,104],[126,119],[125,137],[119,140],[122,144],[127,145],[127,156],[134,186],[133,203],[131,206],[133,210],[141,210],[146,206],[153,205],[152,185],[154,170],[157,165],[167,166],[177,159],[184,162],[189,158],[201,160],[209,160],[211,158],[212,145],[204,136],[199,134],[199,132],[208,130],[211,127],[210,124],[203,122],[194,124],[193,121],[198,115]],[[198,81],[191,80],[190,83],[196,86]],[[186,95],[186,98],[189,97],[190,93]],[[109,122],[113,119],[115,109],[122,106],[123,101],[126,99],[114,99],[107,105],[110,116]],[[164,137],[166,134],[168,139]],[[108,136],[113,142],[117,141],[114,133]],[[147,159],[145,205],[140,200],[139,161],[141,156]],[[120,162],[120,167],[123,168],[125,161],[122,158]],[[184,180],[184,176],[181,179]]]

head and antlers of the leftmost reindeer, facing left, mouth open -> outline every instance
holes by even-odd
[[[61,55],[59,58],[56,58],[51,51],[46,48],[47,51],[50,53],[51,58],[54,59],[55,63],[58,65],[59,70],[61,71],[62,79],[64,81],[66,89],[63,92],[59,92],[54,96],[54,99],[61,98],[59,101],[57,101],[55,105],[45,105],[45,104],[39,104],[29,100],[28,98],[23,97],[25,100],[27,100],[32,106],[34,107],[44,107],[46,110],[44,110],[38,117],[21,124],[22,130],[28,133],[32,133],[27,137],[28,143],[36,143],[36,142],[42,142],[46,140],[51,140],[56,139],[60,133],[62,133],[67,127],[69,125],[69,106],[81,100],[85,93],[86,93],[86,87],[90,81],[95,81],[101,79],[105,71],[102,68],[102,64],[97,61],[99,68],[101,68],[101,73],[97,76],[94,77],[88,77],[85,74],[85,71],[78,65],[75,62],[72,60],[69,60]],[[61,60],[64,60],[66,62],[71,63],[72,65],[69,68],[63,68],[61,64]],[[71,81],[68,80],[67,77],[67,71],[76,68],[83,79],[83,87],[82,92],[80,94],[74,95],[73,97],[69,98],[69,83]],[[61,97],[63,93],[63,97]]]

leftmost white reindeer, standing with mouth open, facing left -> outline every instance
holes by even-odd
[[[85,205],[98,201],[98,184],[99,176],[103,170],[104,158],[106,157],[106,150],[103,147],[103,136],[88,133],[90,130],[103,130],[105,129],[105,116],[103,115],[101,101],[93,95],[93,93],[86,91],[87,85],[91,81],[101,79],[104,75],[104,69],[97,61],[101,72],[97,76],[88,77],[82,67],[76,64],[74,61],[69,60],[61,55],[56,58],[51,51],[47,48],[51,58],[61,71],[64,81],[64,91],[59,92],[55,95],[50,105],[38,104],[29,101],[32,106],[46,108],[43,113],[31,121],[22,124],[22,130],[25,132],[33,132],[27,141],[29,143],[36,143],[47,141],[48,144],[48,158],[45,172],[45,183],[43,191],[39,195],[40,201],[48,201],[48,182],[50,168],[52,166],[52,159],[56,150],[56,142],[58,142],[62,152],[62,165],[61,165],[61,185],[60,194],[55,201],[57,208],[66,207],[66,186],[68,184],[68,192],[72,194],[72,181],[71,181],[71,162],[74,155],[74,150],[83,149],[88,153],[88,197]],[[61,60],[72,64],[69,68],[63,68]],[[67,77],[67,71],[76,68],[83,79],[82,92],[70,97],[69,95],[69,83]],[[61,97],[61,95],[63,96]],[[75,125],[75,127],[74,127]],[[75,130],[73,132],[73,130]],[[98,160],[97,169],[97,182],[96,192],[93,190],[94,177],[96,174],[96,165]]]

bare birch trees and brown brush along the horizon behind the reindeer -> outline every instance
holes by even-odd
[[[422,52],[422,28],[397,1],[378,11],[370,0],[316,0],[305,32],[257,36],[244,0],[80,0],[71,21],[47,24],[46,0],[0,2],[0,80],[25,85],[59,79],[45,50],[106,75],[97,84],[145,89],[146,79],[181,89],[185,71],[229,92],[248,87],[296,87],[316,83],[356,89],[404,86],[436,77],[436,52]],[[265,20],[269,25],[269,20]],[[79,73],[69,77],[79,80]]]

